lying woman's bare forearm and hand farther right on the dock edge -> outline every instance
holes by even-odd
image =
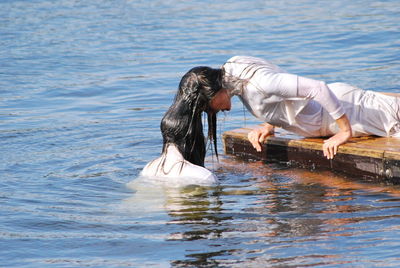
[[[328,159],[333,159],[337,153],[339,145],[347,142],[352,136],[350,122],[346,115],[342,115],[336,120],[336,123],[338,124],[340,131],[329,139],[324,140],[324,145],[322,146],[324,156]]]

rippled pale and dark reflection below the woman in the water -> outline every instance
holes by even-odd
[[[172,231],[165,234],[164,239],[172,244],[182,243],[180,248],[185,252],[182,260],[171,260],[171,265],[216,264],[212,259],[226,254],[225,250],[209,252],[210,246],[215,247],[209,243],[218,241],[228,232],[221,223],[232,220],[232,216],[222,209],[219,186],[174,187],[139,177],[128,187],[135,193],[125,200],[124,209],[142,216],[149,213],[167,215],[165,224],[172,226]],[[205,248],[208,250],[203,252]]]

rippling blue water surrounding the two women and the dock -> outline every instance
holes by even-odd
[[[400,188],[212,156],[141,181],[181,76],[233,55],[400,92],[400,2],[0,2],[0,266],[398,267]],[[234,100],[219,135],[258,123]]]

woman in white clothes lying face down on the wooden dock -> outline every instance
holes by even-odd
[[[399,94],[345,83],[327,85],[248,56],[235,56],[217,70],[223,89],[210,106],[215,112],[229,110],[231,97],[239,96],[246,108],[265,122],[248,135],[257,151],[275,126],[305,137],[330,137],[323,144],[328,159],[352,136],[400,137]]]

